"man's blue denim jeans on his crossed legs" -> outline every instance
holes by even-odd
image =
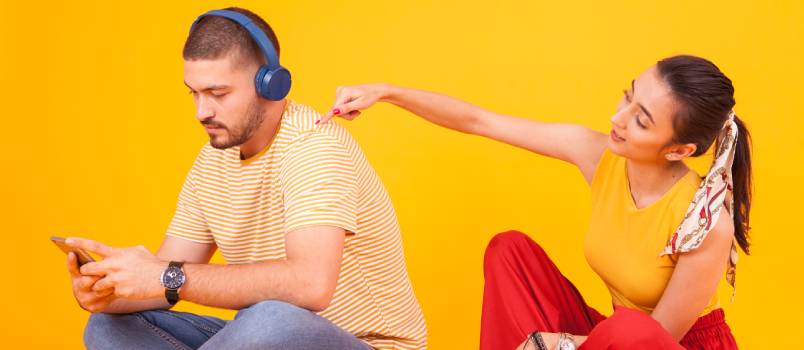
[[[280,301],[254,304],[231,321],[168,310],[93,314],[84,345],[90,350],[371,349],[329,320]]]

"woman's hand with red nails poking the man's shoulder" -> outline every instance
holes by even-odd
[[[388,85],[363,84],[354,86],[339,86],[335,91],[335,103],[318,123],[326,123],[334,116],[352,120],[360,115],[360,111],[379,102],[387,93]]]

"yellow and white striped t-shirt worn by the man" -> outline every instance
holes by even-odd
[[[421,349],[427,329],[408,278],[394,208],[351,135],[316,125],[288,101],[266,149],[206,144],[184,182],[167,235],[215,243],[227,263],[285,257],[285,234],[309,226],[348,232],[338,285],[319,314],[380,349]]]

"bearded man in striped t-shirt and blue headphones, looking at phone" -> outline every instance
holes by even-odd
[[[68,239],[104,257],[79,269],[68,256],[76,299],[93,313],[87,348],[425,348],[388,194],[348,132],[284,98],[290,75],[270,26],[248,10],[212,11],[183,56],[210,141],[155,255]],[[215,249],[227,264],[209,264]],[[239,311],[231,321],[169,311],[179,299]]]

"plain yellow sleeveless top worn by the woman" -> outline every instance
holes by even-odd
[[[612,302],[653,312],[675,270],[677,255],[659,256],[678,228],[701,178],[690,171],[659,200],[638,209],[626,159],[606,150],[592,178],[592,217],[584,255],[603,279]],[[720,307],[717,293],[701,315]]]

